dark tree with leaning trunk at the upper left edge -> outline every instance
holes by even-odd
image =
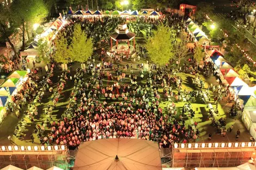
[[[10,35],[17,32],[17,23],[13,20],[13,15],[9,8],[3,7],[3,5],[0,5],[0,39],[3,41],[7,41],[11,49],[13,49],[14,54],[16,58],[18,58],[17,51],[13,45],[13,43],[10,40]]]

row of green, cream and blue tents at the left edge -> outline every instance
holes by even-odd
[[[8,102],[11,102],[11,96],[20,91],[22,83],[27,79],[27,71],[14,71],[0,85],[0,124],[7,116],[5,106]]]

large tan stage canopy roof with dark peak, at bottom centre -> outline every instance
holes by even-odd
[[[87,169],[161,170],[159,146],[153,141],[134,138],[83,142],[78,149],[74,170]]]

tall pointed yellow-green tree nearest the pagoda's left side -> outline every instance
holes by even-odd
[[[81,24],[75,24],[71,45],[69,46],[71,59],[78,62],[86,62],[93,54],[92,38],[87,38],[81,29]]]

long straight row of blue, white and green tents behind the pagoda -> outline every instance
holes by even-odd
[[[90,10],[87,10],[87,11],[83,11],[83,10],[78,10],[76,12],[73,12],[72,10],[69,10],[68,11],[68,15],[127,15],[127,16],[139,16],[139,15],[142,15],[142,16],[160,16],[160,13],[157,12],[157,11],[151,11],[151,12],[148,12],[148,11],[142,11],[142,12],[139,12],[139,11],[127,11],[127,10],[124,10],[124,11],[118,11],[118,10],[114,10],[114,11],[99,11],[99,10],[96,10],[96,11],[90,11]]]

